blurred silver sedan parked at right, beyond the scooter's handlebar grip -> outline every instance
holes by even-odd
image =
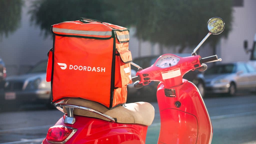
[[[237,90],[255,90],[256,72],[248,63],[237,62],[212,66],[205,71],[207,93],[227,93]]]

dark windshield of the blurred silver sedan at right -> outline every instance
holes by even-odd
[[[235,72],[235,66],[233,64],[227,65],[215,65],[209,68],[205,75],[215,75],[215,74],[229,74]]]

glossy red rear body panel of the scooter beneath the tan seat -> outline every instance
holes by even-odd
[[[120,124],[97,118],[74,115],[73,125],[64,123],[66,115],[56,125],[78,129],[65,144],[144,144],[147,126],[139,124]],[[52,144],[44,139],[42,144]]]

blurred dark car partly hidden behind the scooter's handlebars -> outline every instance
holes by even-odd
[[[187,57],[191,56],[191,54],[174,54],[180,57]],[[156,61],[159,56],[147,56],[147,57],[140,57],[133,59],[133,63],[141,66],[143,69],[150,67]],[[137,68],[132,66],[131,67],[131,75],[132,77],[136,76]],[[205,83],[204,83],[204,76],[198,71],[189,71],[187,74],[184,75],[184,79],[187,79],[193,82],[199,89],[202,97],[204,97],[205,91]],[[159,82],[151,81],[147,86],[142,87],[141,89],[135,89],[133,84],[127,86],[128,96],[127,101],[133,102],[137,100],[141,101],[156,101],[156,91],[157,85]]]

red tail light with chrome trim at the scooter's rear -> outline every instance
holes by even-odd
[[[49,128],[46,139],[52,143],[65,143],[76,131],[77,129],[67,126],[53,126]]]

